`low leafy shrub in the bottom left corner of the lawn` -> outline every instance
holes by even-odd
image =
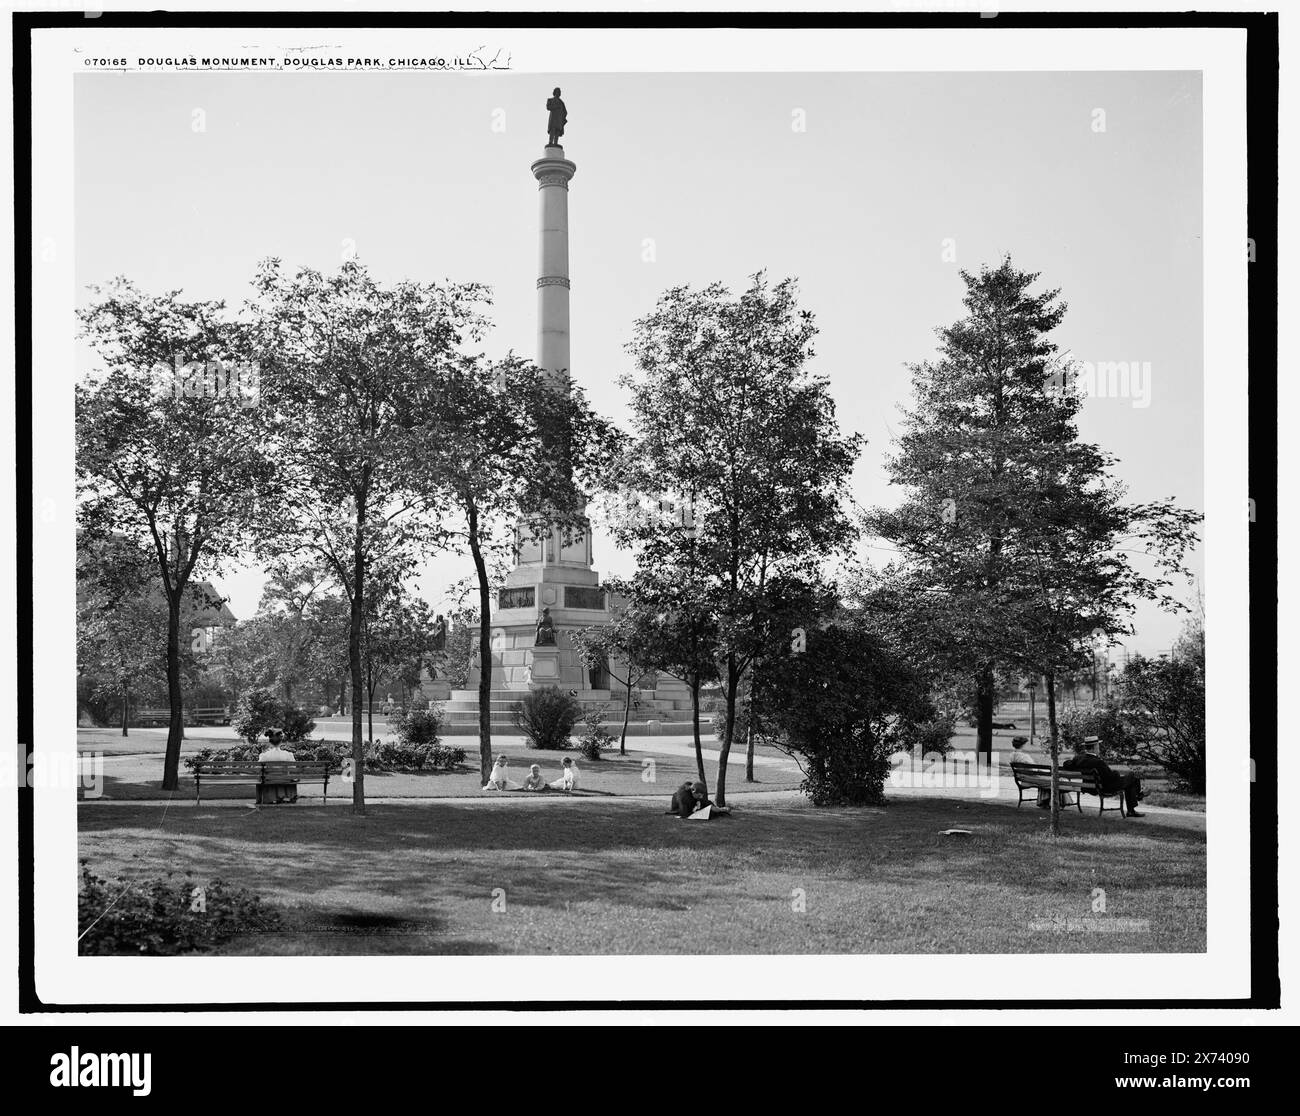
[[[169,871],[109,882],[83,861],[77,925],[83,955],[161,956],[202,952],[235,934],[276,930],[280,916],[252,892],[222,879],[199,883],[190,873]]]

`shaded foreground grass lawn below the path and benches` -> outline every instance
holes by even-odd
[[[230,955],[1205,950],[1200,829],[1069,814],[1053,840],[1039,810],[933,797],[755,801],[703,823],[660,809],[100,804],[81,808],[79,855],[100,875],[170,869],[259,894],[283,925],[228,940]],[[954,826],[971,836],[940,835]]]

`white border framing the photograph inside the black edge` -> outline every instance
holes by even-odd
[[[32,238],[53,245],[32,261],[34,739],[52,758],[72,758],[66,723],[74,648],[73,382],[75,304],[73,225],[73,77],[84,53],[126,57],[259,52],[300,47],[321,29],[116,27],[32,30]],[[577,956],[538,969],[534,959],[402,957],[81,957],[77,953],[77,803],[66,790],[35,796],[35,977],[51,1005],[244,1004],[277,985],[295,1004],[662,1002],[690,981],[711,999],[746,1002],[1230,1000],[1251,995],[1249,737],[1239,696],[1249,692],[1247,493],[1247,151],[1245,39],[1239,27],[1096,29],[328,29],[358,55],[420,53],[422,36],[465,51],[506,42],[515,73],[1199,70],[1204,92],[1205,597],[1209,691],[1206,731],[1225,747],[1209,756],[1206,797],[1206,952],[1105,955],[1095,966],[1053,969],[1049,992],[1026,994],[1020,957]],[[200,46],[202,40],[202,46]],[[779,47],[779,48],[777,48]],[[462,51],[464,53],[465,51]],[[490,79],[490,78],[489,78]],[[62,248],[66,246],[66,250]],[[21,308],[20,308],[21,310]],[[179,809],[187,808],[178,805]],[[1053,959],[1076,955],[1044,955]],[[1082,955],[1078,955],[1082,956]],[[1088,955],[1091,956],[1091,955]],[[755,981],[760,970],[762,981]],[[494,974],[489,983],[488,973]],[[521,979],[526,976],[528,992]],[[781,990],[774,994],[774,990]]]

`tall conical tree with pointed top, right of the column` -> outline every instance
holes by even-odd
[[[939,614],[937,640],[970,670],[978,749],[992,756],[1009,520],[1036,484],[1041,444],[1072,437],[1078,405],[1044,390],[1058,369],[1046,334],[1065,317],[1060,291],[1032,294],[1037,274],[1009,258],[961,277],[966,315],[937,330],[936,360],[910,365],[913,405],[885,463],[906,499],[870,515],[868,529],[898,545],[919,591],[948,598],[920,614]]]

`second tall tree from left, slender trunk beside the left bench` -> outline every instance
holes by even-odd
[[[259,541],[268,555],[324,563],[347,597],[352,809],[364,814],[368,575],[443,541],[441,510],[415,483],[415,431],[458,346],[480,336],[486,293],[472,284],[382,286],[356,260],[330,276],[286,276],[268,260],[255,286],[268,437],[285,485],[263,509]]]

